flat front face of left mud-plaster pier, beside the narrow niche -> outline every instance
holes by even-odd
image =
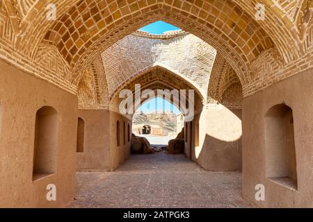
[[[77,153],[77,169],[111,169],[109,110],[79,110],[85,123],[83,153]]]

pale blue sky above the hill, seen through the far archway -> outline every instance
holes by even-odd
[[[172,111],[175,114],[181,113],[175,105],[160,97],[151,99],[150,101],[143,103],[143,105],[141,105],[141,107],[138,110],[142,112],[152,112],[162,110],[162,111]]]

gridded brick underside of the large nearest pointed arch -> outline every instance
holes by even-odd
[[[201,13],[197,4],[202,6]],[[229,11],[230,15],[226,11],[220,13],[218,7]],[[103,17],[102,10],[107,10],[109,14]],[[197,17],[199,13],[201,16]],[[125,10],[114,2],[109,8],[105,3],[87,5],[81,2],[51,26],[45,35],[45,42],[54,44],[73,67],[69,80],[77,84],[81,70],[95,56],[125,35],[160,19],[209,42],[230,60],[243,83],[248,81],[248,63],[274,45],[264,29],[234,3],[210,4],[202,1],[191,4],[177,1],[173,5],[143,1],[131,4]]]

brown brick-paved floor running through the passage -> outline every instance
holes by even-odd
[[[249,207],[241,173],[209,172],[184,155],[131,155],[114,172],[77,173],[68,207]]]

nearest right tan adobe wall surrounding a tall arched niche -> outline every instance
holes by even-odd
[[[313,69],[303,71],[243,100],[243,197],[257,207],[313,207]],[[298,190],[266,178],[264,116],[285,103],[294,114]],[[265,201],[255,186],[265,186]]]

